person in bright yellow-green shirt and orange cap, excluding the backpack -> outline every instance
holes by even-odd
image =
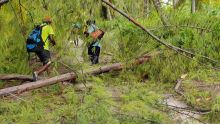
[[[39,57],[40,61],[43,63],[43,66],[39,70],[34,71],[33,79],[35,81],[38,80],[38,75],[46,71],[51,64],[49,46],[50,43],[52,43],[53,46],[56,45],[56,42],[54,40],[54,31],[51,26],[51,23],[52,23],[51,17],[47,16],[43,19],[43,24],[41,24],[42,26],[41,37],[44,43],[44,48],[37,50],[35,53]]]

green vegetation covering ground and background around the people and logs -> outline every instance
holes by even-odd
[[[111,1],[111,0],[110,0]],[[143,0],[144,1],[144,0]],[[0,100],[0,123],[178,123],[170,116],[172,111],[162,105],[164,94],[173,94],[194,108],[210,110],[200,120],[218,123],[220,116],[220,92],[217,87],[200,88],[200,85],[219,84],[219,63],[212,63],[201,56],[220,60],[220,10],[218,2],[203,0],[196,13],[191,13],[189,0],[177,8],[163,5],[169,26],[165,27],[150,2],[147,11],[143,1],[112,0],[116,7],[129,13],[150,29],[160,39],[172,45],[196,53],[188,56],[158,44],[115,11],[107,7],[111,19],[105,17],[99,0],[17,0],[0,7],[0,73],[31,74],[39,64],[30,64],[25,40],[34,25],[46,15],[53,17],[57,46],[51,48],[52,73],[81,72],[91,68],[84,44],[84,62],[79,63],[73,45],[69,45],[71,26],[75,22],[85,24],[95,19],[98,27],[106,31],[102,41],[101,59],[110,54],[106,63],[127,62],[146,53],[159,53],[149,63],[122,72],[112,72],[98,77],[79,74],[77,82],[92,83],[92,89],[75,91],[73,85],[62,83]],[[104,12],[103,12],[104,11]],[[108,13],[109,14],[109,13]],[[108,15],[109,16],[109,15]],[[87,39],[82,35],[81,39]],[[34,55],[32,55],[34,57]],[[35,62],[36,63],[36,62]],[[128,64],[129,66],[129,64]],[[181,75],[184,96],[173,90]],[[45,74],[48,76],[47,74]],[[22,84],[1,82],[0,88]],[[116,97],[116,98],[114,98]],[[120,98],[118,98],[120,97]],[[170,114],[167,114],[170,113]]]

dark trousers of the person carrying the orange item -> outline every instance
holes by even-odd
[[[90,60],[92,64],[98,64],[99,63],[99,54],[100,54],[100,47],[99,46],[93,46],[93,44],[90,44],[88,47],[88,55],[90,57]]]

